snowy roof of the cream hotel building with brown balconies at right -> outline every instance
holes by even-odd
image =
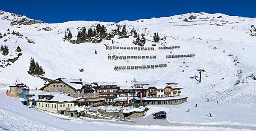
[[[164,89],[165,87],[171,87],[169,84],[173,82],[166,82],[162,80],[155,81],[149,85],[144,85],[143,89],[148,89],[149,87],[155,87],[157,89]],[[172,88],[178,88],[178,87],[172,87]]]

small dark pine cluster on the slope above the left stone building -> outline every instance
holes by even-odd
[[[30,68],[29,68],[30,75],[44,75],[45,72],[42,66],[39,66],[37,62],[33,58],[30,58]]]

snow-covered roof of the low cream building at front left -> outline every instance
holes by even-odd
[[[39,96],[54,96],[52,99],[39,99]],[[35,96],[31,97],[30,100],[35,101],[52,101],[52,102],[71,102],[71,101],[77,101],[77,99],[68,96],[66,93],[61,92],[40,92],[36,93]]]

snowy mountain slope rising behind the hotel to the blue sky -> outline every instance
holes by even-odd
[[[188,19],[191,15],[196,19]],[[221,16],[221,17],[219,17]],[[219,17],[219,18],[217,18]],[[183,21],[185,18],[187,22]],[[205,19],[207,18],[207,19]],[[212,20],[211,20],[212,19]],[[208,21],[195,21],[208,20]],[[210,21],[211,20],[211,21]],[[221,21],[222,20],[222,21]],[[221,21],[221,22],[220,22]],[[171,23],[169,23],[171,22]],[[158,32],[163,38],[167,36],[162,44],[156,44],[155,50],[106,50],[107,46],[138,47],[132,41],[134,38],[104,40],[99,44],[82,43],[71,44],[63,41],[64,32],[69,28],[73,38],[77,35],[77,28],[85,26],[96,26],[98,23],[105,25],[107,32],[116,29],[116,23],[98,21],[69,21],[65,23],[35,23],[31,25],[14,25],[11,21],[0,19],[0,32],[20,32],[24,37],[9,34],[0,39],[0,45],[7,45],[12,52],[17,46],[22,49],[22,56],[11,66],[0,68],[1,82],[12,82],[17,77],[30,88],[42,87],[42,79],[30,76],[30,58],[45,70],[45,76],[49,79],[82,78],[87,82],[118,82],[121,85],[130,86],[130,82],[137,80],[170,80],[179,82],[184,87],[182,93],[188,96],[209,98],[229,103],[242,103],[246,106],[256,106],[255,80],[247,78],[249,83],[234,86],[239,79],[246,79],[251,73],[256,73],[255,37],[248,34],[248,29],[255,24],[255,18],[244,18],[228,16],[223,14],[189,13],[171,17],[152,18],[146,20],[121,21],[118,24],[126,24],[128,32],[131,28],[137,29],[139,34],[144,33],[146,27],[146,38],[153,39],[154,32]],[[203,23],[203,24],[202,24]],[[224,23],[224,24],[223,24]],[[110,26],[113,24],[112,26]],[[213,25],[210,25],[213,24]],[[184,26],[190,25],[190,26]],[[221,25],[221,26],[216,26]],[[49,31],[45,30],[49,29]],[[27,39],[32,39],[35,44],[30,44]],[[6,40],[4,42],[3,40]],[[146,41],[144,47],[152,47],[152,41]],[[158,47],[180,46],[181,49],[159,50]],[[95,54],[97,50],[97,54]],[[225,52],[225,53],[224,53]],[[229,53],[232,56],[228,56]],[[194,58],[165,58],[166,55],[196,54]],[[108,55],[157,55],[156,59],[130,59],[130,60],[108,60]],[[0,55],[1,58],[10,56]],[[237,61],[234,62],[235,59]],[[188,64],[183,64],[185,61]],[[238,62],[239,63],[236,63]],[[167,67],[149,70],[122,70],[115,71],[115,66],[136,66],[151,64],[167,64]],[[236,65],[235,65],[236,64]],[[190,76],[199,75],[198,67],[204,67],[202,82],[190,79]],[[84,69],[80,72],[79,69]],[[184,70],[184,72],[181,72]],[[237,70],[242,70],[239,76]],[[222,76],[224,80],[221,80]],[[126,83],[128,81],[128,83]]]

